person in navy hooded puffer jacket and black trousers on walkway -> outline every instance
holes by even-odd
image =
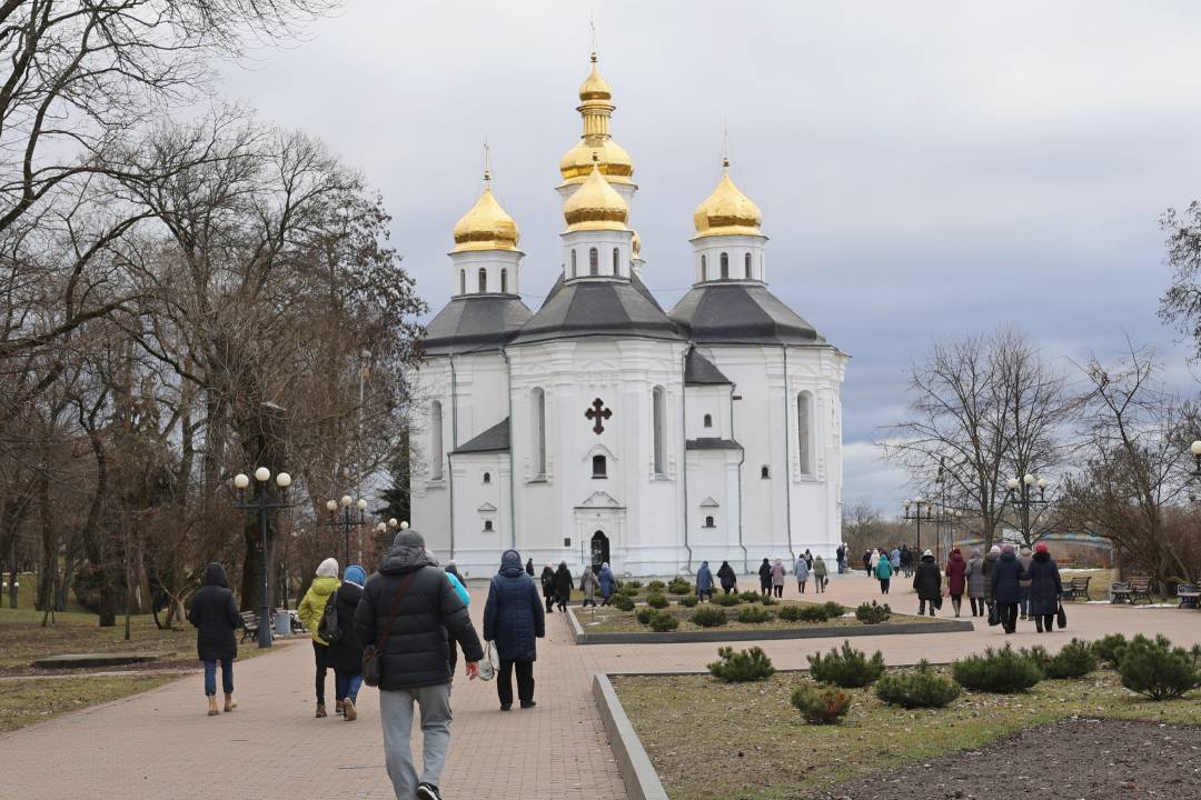
[[[592,570],[586,575],[597,577]],[[592,602],[596,604],[596,601]],[[532,709],[533,662],[538,658],[537,639],[546,636],[546,618],[538,600],[538,588],[528,575],[521,572],[521,557],[516,551],[504,551],[501,570],[488,585],[484,603],[484,640],[492,642],[501,668],[496,675],[496,696],[501,710],[513,708],[513,672],[518,673],[518,700],[522,709]]]

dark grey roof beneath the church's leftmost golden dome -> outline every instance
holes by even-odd
[[[533,314],[516,295],[455,297],[425,326],[425,355],[498,350]]]

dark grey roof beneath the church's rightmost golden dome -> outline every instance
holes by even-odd
[[[825,344],[826,341],[761,283],[693,287],[668,314],[705,344]]]

